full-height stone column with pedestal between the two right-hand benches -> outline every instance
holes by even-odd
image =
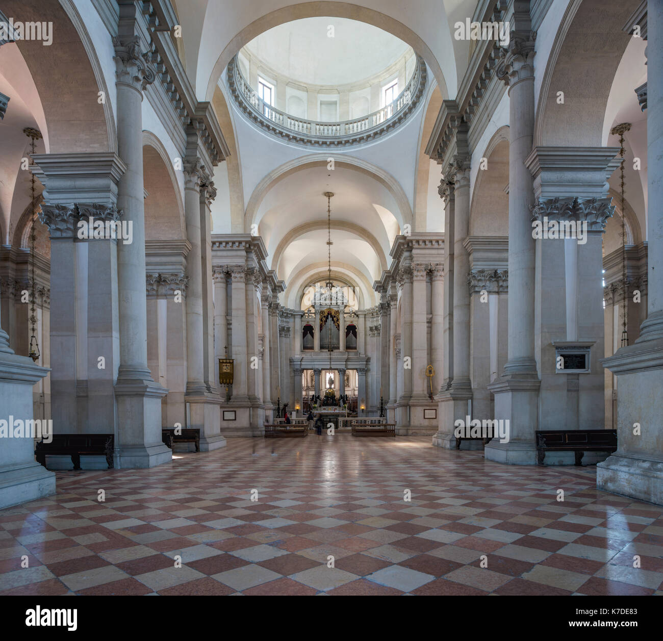
[[[534,463],[540,380],[534,357],[534,189],[525,160],[534,135],[534,34],[529,12],[514,18],[509,48],[497,75],[509,86],[509,357],[495,394],[495,419],[509,420],[509,443],[493,439],[485,457],[501,463]]]

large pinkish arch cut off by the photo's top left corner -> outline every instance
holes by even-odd
[[[117,137],[111,101],[106,99],[102,104],[97,100],[99,91],[105,91],[108,97],[108,89],[90,35],[74,3],[6,0],[3,11],[15,21],[50,22],[57,34],[48,46],[48,56],[44,56],[43,47],[32,42],[16,43],[42,103],[46,152],[115,151]]]

